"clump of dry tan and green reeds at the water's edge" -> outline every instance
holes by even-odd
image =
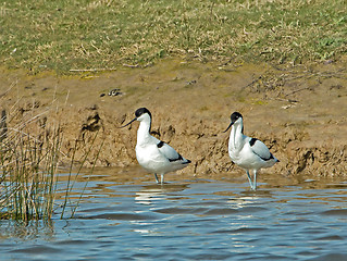
[[[60,217],[63,219],[67,203],[73,208],[71,216],[79,204],[82,195],[74,202],[70,197],[74,186],[74,183],[70,182],[75,175],[72,174],[74,159],[70,160],[67,185],[58,190],[58,165],[64,139],[60,125],[50,127],[45,125],[39,130],[33,130],[39,125],[39,115],[29,119],[22,117],[14,127],[8,127],[7,120],[9,119],[7,119],[5,111],[2,111],[0,121],[0,220],[49,221],[58,209],[61,212]],[[11,120],[13,119],[10,119],[9,122]],[[97,134],[95,134],[96,138]],[[79,171],[88,154],[79,162]],[[64,195],[63,203],[60,204],[62,208],[55,208],[57,196],[62,194]]]

